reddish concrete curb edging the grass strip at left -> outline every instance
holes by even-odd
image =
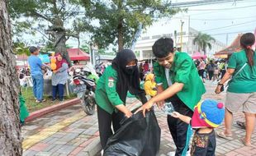
[[[37,117],[42,117],[47,113],[55,112],[59,109],[66,108],[66,107],[69,107],[69,106],[72,106],[72,105],[78,104],[78,103],[80,103],[80,99],[76,98],[76,99],[71,99],[69,101],[64,101],[63,103],[55,104],[48,108],[40,109],[36,112],[31,112],[30,116],[26,117],[25,122],[31,122],[31,121],[35,120]]]

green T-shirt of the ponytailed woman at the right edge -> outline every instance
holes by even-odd
[[[228,68],[235,69],[235,73],[239,71],[244,63],[248,62],[246,53],[241,50],[233,53],[230,57]],[[235,73],[233,76],[235,76]],[[250,67],[249,63],[239,72],[234,79],[231,80],[228,91],[232,93],[253,93],[256,92],[256,54],[254,54],[254,66]]]

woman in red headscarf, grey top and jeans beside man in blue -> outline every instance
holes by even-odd
[[[52,85],[52,102],[57,99],[57,93],[59,94],[59,101],[64,100],[64,85],[68,80],[68,62],[64,59],[61,53],[56,53],[56,69],[53,71],[51,77]]]

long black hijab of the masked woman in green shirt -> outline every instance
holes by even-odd
[[[124,103],[126,103],[128,90],[130,91],[130,94],[139,96],[142,103],[146,103],[147,99],[145,98],[145,90],[140,89],[140,75],[138,67],[135,67],[132,74],[128,74],[126,72],[126,65],[128,62],[133,60],[137,62],[135,53],[130,49],[121,50],[121,52],[117,53],[114,58],[112,67],[117,72],[116,92]]]

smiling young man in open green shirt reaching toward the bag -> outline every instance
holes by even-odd
[[[187,53],[173,52],[173,39],[158,39],[153,47],[154,75],[158,94],[145,103],[139,111],[149,111],[157,103],[159,107],[165,102],[173,103],[174,110],[180,114],[192,117],[194,107],[206,92],[205,86],[198,75],[192,58]],[[177,147],[176,152],[168,155],[182,155],[187,140],[187,123],[168,115],[168,127]],[[185,151],[186,153],[187,151]]]

